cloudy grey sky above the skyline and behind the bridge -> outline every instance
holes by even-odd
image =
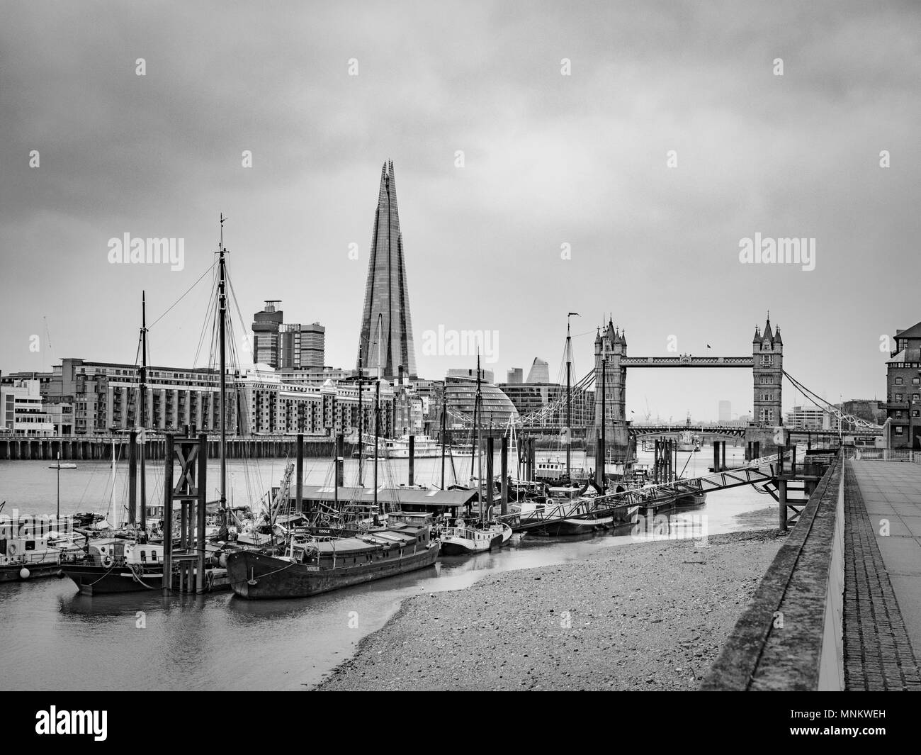
[[[191,365],[210,278],[158,318],[213,264],[221,212],[238,340],[279,299],[287,321],[326,325],[328,364],[354,366],[392,159],[423,376],[472,362],[422,353],[439,325],[496,331],[497,377],[541,356],[553,379],[570,311],[581,374],[608,313],[631,355],[667,355],[676,336],[681,353],[735,356],[770,310],[801,382],[884,397],[880,336],[921,320],[919,16],[912,2],[3,0],[0,370],[133,363],[142,289],[152,360]],[[184,239],[183,269],[112,265],[125,233]],[[755,233],[814,238],[815,269],[741,264]],[[628,410],[716,419],[729,399],[740,414],[751,383],[637,370]]]

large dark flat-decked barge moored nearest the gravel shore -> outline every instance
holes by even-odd
[[[292,538],[288,555],[240,550],[227,556],[227,577],[240,597],[309,597],[435,563],[431,514],[390,513],[389,524],[356,537]]]

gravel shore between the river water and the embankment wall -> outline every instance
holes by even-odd
[[[317,690],[694,690],[783,543],[636,543],[414,596]]]

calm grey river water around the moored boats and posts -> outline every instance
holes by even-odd
[[[738,461],[741,454],[741,447],[728,448],[727,461]],[[651,455],[640,453],[640,461],[651,463]],[[704,475],[711,459],[709,448],[679,454],[678,468],[687,461],[687,476]],[[228,497],[237,504],[258,500],[284,472],[282,459],[258,461],[258,466],[227,462]],[[581,464],[580,455],[574,455],[574,463]],[[108,463],[77,462],[76,469],[60,472],[49,464],[0,462],[3,513],[55,513],[58,505],[62,514],[105,512],[112,502],[115,508],[123,505],[125,465],[116,465],[111,501]],[[345,464],[345,482],[354,484],[356,462]],[[162,463],[147,469],[148,500],[162,501]],[[209,462],[210,490],[216,490],[218,474],[218,464]],[[439,459],[416,460],[416,483],[437,483],[440,474]],[[468,459],[458,476],[469,474]],[[408,462],[382,464],[379,476],[405,482]],[[366,482],[368,478],[370,470]],[[331,479],[329,460],[305,461],[307,484]],[[773,526],[773,503],[751,487],[711,492],[704,507],[660,515],[655,522],[576,540],[515,536],[495,553],[443,558],[421,572],[301,600],[247,601],[230,593],[89,597],[77,595],[70,580],[54,578],[0,584],[0,689],[305,690],[352,655],[358,641],[382,627],[407,596],[461,589],[495,572],[579,560],[643,539],[703,538]]]

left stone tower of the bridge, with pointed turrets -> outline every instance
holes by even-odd
[[[623,332],[614,327],[609,318],[608,326],[595,337],[595,431],[589,437],[589,451],[597,442],[597,433],[601,431],[601,422],[604,422],[604,434],[609,454],[614,459],[624,458],[630,448],[630,436],[624,417],[626,405],[626,367],[621,360],[627,355],[627,340]],[[604,414],[601,417],[601,363],[605,363],[603,370],[604,383]]]

